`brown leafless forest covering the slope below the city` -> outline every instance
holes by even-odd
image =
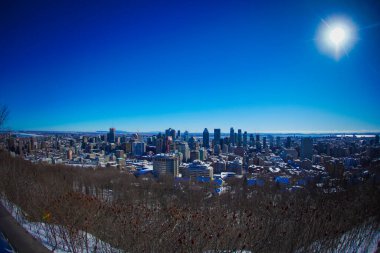
[[[30,221],[64,225],[73,252],[94,251],[77,247],[78,231],[127,252],[345,252],[368,244],[380,227],[373,180],[343,183],[335,193],[230,180],[232,191],[218,196],[213,183],[31,164],[5,152],[0,179],[3,197]]]

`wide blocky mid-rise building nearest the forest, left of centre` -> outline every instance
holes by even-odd
[[[176,154],[158,154],[153,157],[153,171],[159,175],[178,176],[179,156]]]

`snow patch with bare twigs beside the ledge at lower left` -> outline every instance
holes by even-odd
[[[34,238],[55,253],[123,252],[84,231],[78,231],[75,236],[72,236],[72,234],[70,236],[69,231],[64,226],[44,222],[30,222],[26,219],[26,214],[18,206],[8,201],[5,197],[0,197],[0,203]]]

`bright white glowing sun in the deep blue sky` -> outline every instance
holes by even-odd
[[[323,19],[316,38],[321,52],[336,60],[348,55],[356,40],[355,25],[349,19],[342,17]]]

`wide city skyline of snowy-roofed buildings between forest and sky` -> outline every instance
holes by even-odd
[[[136,176],[188,180],[246,178],[302,187],[309,181],[365,180],[380,165],[379,135],[263,135],[231,128],[203,133],[3,134],[0,148],[34,163],[109,167]],[[372,175],[373,176],[373,175]]]

